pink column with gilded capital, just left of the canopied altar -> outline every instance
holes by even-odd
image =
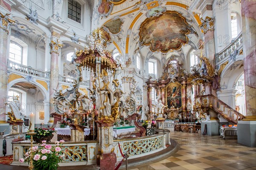
[[[50,97],[50,113],[54,113],[54,101],[53,97],[55,96],[55,90],[58,90],[58,81],[59,81],[59,68],[58,68],[58,55],[60,49],[62,47],[62,42],[57,37],[53,36],[56,34],[52,32],[51,43],[50,43],[50,53],[51,53],[51,65],[50,65],[50,89],[49,89],[49,97]],[[58,35],[59,36],[59,35]]]

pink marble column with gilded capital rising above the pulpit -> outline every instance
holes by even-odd
[[[212,67],[215,68],[214,18],[205,17],[200,28],[204,31],[205,56],[209,59]]]

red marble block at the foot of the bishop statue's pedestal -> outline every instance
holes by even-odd
[[[102,153],[100,156],[100,170],[114,170],[116,153]]]

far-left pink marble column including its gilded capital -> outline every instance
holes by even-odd
[[[0,123],[6,123],[6,97],[7,97],[7,58],[9,48],[9,27],[15,23],[9,14],[0,17]]]

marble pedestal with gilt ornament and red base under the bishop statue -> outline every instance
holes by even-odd
[[[113,145],[113,118],[98,118],[99,153],[97,154],[97,165],[101,170],[113,170],[116,164],[116,154]]]

